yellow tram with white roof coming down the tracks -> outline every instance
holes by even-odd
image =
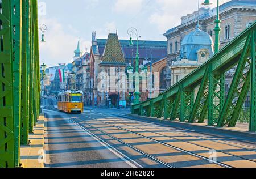
[[[82,91],[65,91],[58,95],[58,109],[67,113],[84,112]]]

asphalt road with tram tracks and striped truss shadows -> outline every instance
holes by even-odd
[[[147,122],[128,117],[126,109],[85,108],[83,114],[67,114],[54,109],[52,101],[42,102],[46,167],[256,167],[255,138]]]

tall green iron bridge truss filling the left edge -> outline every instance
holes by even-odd
[[[19,167],[40,110],[37,0],[0,0],[0,167]]]

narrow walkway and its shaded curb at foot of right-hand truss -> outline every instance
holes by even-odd
[[[214,132],[224,132],[226,134],[237,134],[243,135],[246,137],[256,138],[256,133],[249,132],[249,125],[246,123],[237,123],[236,127],[216,127],[216,126],[207,126],[207,120],[204,123],[188,123],[188,122],[179,122],[179,121],[170,121],[170,120],[160,120],[158,118],[138,116],[135,114],[128,114],[129,117],[135,117],[141,120],[148,120],[151,122],[161,122],[165,125],[170,125],[170,127],[183,127],[185,129],[199,129],[199,130],[208,130]]]

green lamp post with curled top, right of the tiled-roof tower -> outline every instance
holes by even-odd
[[[134,27],[131,27],[128,29],[127,31],[128,35],[130,35],[130,46],[133,45],[133,35],[136,36],[136,42],[137,42],[137,48],[136,48],[136,58],[135,58],[135,61],[136,61],[136,66],[135,66],[135,73],[139,73],[139,40],[138,40],[138,31],[137,29],[135,29]],[[138,77],[139,78],[139,77]],[[135,89],[139,89],[139,79],[136,80],[136,83],[135,83]],[[141,103],[141,101],[139,100],[139,95],[140,95],[140,92],[139,91],[135,91],[134,93],[134,96],[135,96],[135,99],[134,99],[134,104],[138,104],[138,103]]]

